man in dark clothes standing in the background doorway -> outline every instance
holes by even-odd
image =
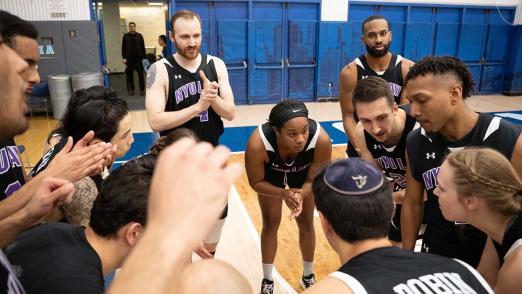
[[[123,35],[121,41],[121,56],[127,77],[127,90],[129,95],[134,95],[134,70],[138,72],[138,81],[140,83],[140,95],[145,95],[145,78],[142,60],[145,58],[145,41],[143,36],[136,32],[136,23],[129,23],[129,32]]]

